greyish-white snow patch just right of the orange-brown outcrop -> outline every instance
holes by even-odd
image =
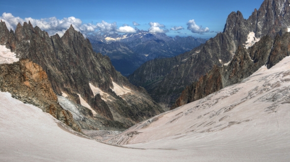
[[[69,99],[62,96],[57,96],[57,102],[63,107],[63,109],[69,110],[75,120],[83,119],[83,116],[80,114],[77,106],[74,105]]]

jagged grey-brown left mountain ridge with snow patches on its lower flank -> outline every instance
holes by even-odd
[[[131,85],[114,69],[109,58],[96,54],[89,39],[72,26],[63,37],[58,34],[49,37],[30,22],[18,24],[15,33],[1,22],[0,40],[17,57],[40,65],[53,92],[65,96],[82,116],[92,119],[77,121],[82,129],[124,129],[163,112],[146,90]],[[122,93],[125,89],[126,93]]]

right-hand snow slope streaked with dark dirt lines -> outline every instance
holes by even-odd
[[[192,150],[206,159],[225,161],[290,160],[290,57],[271,69],[261,67],[241,84],[157,115],[108,141],[136,148]]]

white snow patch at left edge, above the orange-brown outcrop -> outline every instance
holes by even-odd
[[[5,46],[0,45],[0,64],[12,64],[19,61],[14,52],[10,52]]]

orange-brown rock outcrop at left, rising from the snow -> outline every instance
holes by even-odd
[[[47,74],[38,64],[27,59],[13,64],[0,64],[0,89],[23,103],[41,108],[73,130],[81,132],[71,112],[57,104]]]

